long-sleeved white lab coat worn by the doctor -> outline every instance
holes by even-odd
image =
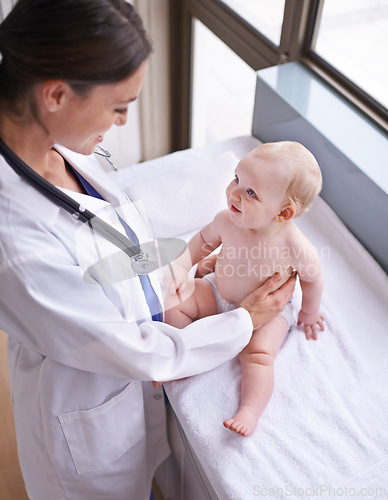
[[[94,156],[58,149],[107,202],[77,200],[118,228],[112,207],[121,210],[141,242],[150,238]],[[184,330],[150,321],[138,278],[84,279],[99,251],[117,252],[95,238],[0,157],[0,328],[31,500],[148,500],[169,453],[162,390],[149,381],[210,370],[252,331],[243,309]]]

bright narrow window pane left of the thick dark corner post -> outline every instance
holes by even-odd
[[[194,40],[191,146],[250,135],[256,73],[198,20]]]

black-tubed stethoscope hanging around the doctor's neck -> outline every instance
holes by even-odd
[[[37,174],[35,170],[33,170],[22,159],[20,159],[2,141],[2,139],[0,139],[0,153],[4,156],[5,160],[13,168],[13,170],[18,175],[20,175],[20,177],[26,179],[40,193],[46,196],[46,198],[49,198],[56,205],[64,208],[76,219],[89,224],[89,226],[100,233],[103,238],[113,243],[116,247],[118,247],[126,255],[128,255],[131,261],[132,271],[136,275],[149,274],[159,267],[163,267],[167,264],[169,265],[170,271],[172,272],[171,261],[178,257],[186,247],[185,243],[182,240],[178,240],[176,238],[155,240],[154,243],[157,244],[158,247],[163,247],[164,249],[164,251],[162,252],[164,257],[162,257],[162,259],[159,257],[159,262],[157,262],[156,260],[149,258],[147,253],[145,253],[136,243],[134,243],[128,237],[121,234],[120,231],[117,231],[117,229],[107,224],[93,212],[87,210],[83,205],[76,202],[73,198],[71,198],[66,193]],[[117,168],[113,165],[113,162],[110,159],[111,154],[108,151],[101,148],[101,146],[97,146],[94,153],[105,158],[110,166],[112,166],[117,171]]]

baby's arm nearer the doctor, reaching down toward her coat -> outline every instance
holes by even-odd
[[[224,219],[225,214],[220,212],[210,224],[196,233],[185,253],[173,263],[174,276],[170,272],[164,276],[164,284],[172,295],[184,290],[190,269],[221,245],[220,227]]]

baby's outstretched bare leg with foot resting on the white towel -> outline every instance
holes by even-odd
[[[224,422],[227,429],[243,436],[252,434],[271,398],[274,387],[274,362],[288,331],[288,323],[276,316],[253,332],[240,353],[241,403],[236,415]]]

